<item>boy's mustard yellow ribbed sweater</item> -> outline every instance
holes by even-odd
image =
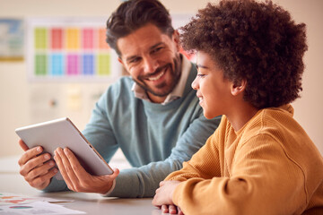
[[[186,214],[323,214],[323,159],[286,105],[234,132],[223,116],[205,146],[166,180]]]

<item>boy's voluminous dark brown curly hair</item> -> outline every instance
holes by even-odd
[[[223,0],[207,4],[179,29],[186,50],[204,51],[231,82],[247,80],[244,99],[279,107],[299,98],[305,24],[271,1]]]

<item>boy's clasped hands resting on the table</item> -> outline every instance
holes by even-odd
[[[160,188],[156,190],[156,194],[153,196],[153,205],[161,208],[163,213],[183,215],[184,213],[180,208],[172,202],[172,194],[179,183],[179,181],[162,181]]]

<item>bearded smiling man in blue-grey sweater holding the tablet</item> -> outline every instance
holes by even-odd
[[[198,150],[220,118],[206,120],[190,88],[196,68],[179,54],[178,33],[170,14],[157,0],[127,1],[107,22],[107,41],[131,77],[109,87],[92,111],[83,135],[109,162],[120,148],[134,167],[111,176],[88,174],[68,149],[55,161],[64,181],[41,147],[19,160],[31,186],[45,191],[70,190],[106,196],[153,196],[159,182]],[[67,185],[67,187],[66,187]]]

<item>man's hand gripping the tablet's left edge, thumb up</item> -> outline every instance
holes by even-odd
[[[43,151],[40,146],[29,149],[22,140],[19,140],[19,144],[25,151],[18,160],[20,174],[32,187],[44,189],[49,185],[50,178],[57,174],[54,160],[48,153],[40,154]]]

